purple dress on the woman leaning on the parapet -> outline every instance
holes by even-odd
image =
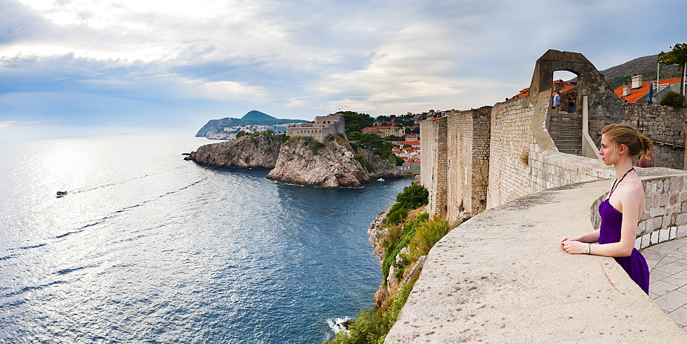
[[[604,200],[599,205],[601,227],[599,244],[611,244],[620,241],[620,225],[622,225],[622,213],[609,200]],[[649,266],[646,265],[644,256],[637,249],[632,249],[629,257],[614,257],[616,262],[624,268],[630,278],[639,284],[644,293],[649,294]]]

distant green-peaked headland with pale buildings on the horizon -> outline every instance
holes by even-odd
[[[246,134],[261,133],[265,130],[273,130],[277,133],[286,131],[286,125],[295,123],[307,123],[302,119],[279,119],[260,111],[249,111],[243,117],[225,117],[222,119],[210,119],[210,121],[198,130],[196,137],[208,139],[236,139],[236,133],[243,131]]]

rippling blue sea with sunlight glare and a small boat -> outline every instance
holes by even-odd
[[[208,143],[0,141],[0,343],[320,343],[370,308],[366,231],[410,181],[320,190],[183,161]]]

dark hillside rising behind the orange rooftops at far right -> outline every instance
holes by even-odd
[[[600,71],[611,89],[617,89],[622,84],[632,81],[636,75],[642,76],[643,81],[656,80],[656,60],[658,55],[644,56]],[[677,65],[662,66],[660,78],[678,78],[680,68]]]

